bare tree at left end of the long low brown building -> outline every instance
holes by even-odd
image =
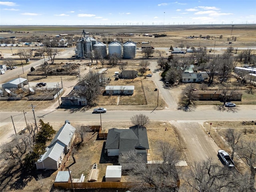
[[[196,86],[194,84],[189,84],[182,90],[180,101],[179,101],[179,109],[188,111],[192,110],[195,106],[194,101],[198,100],[197,95],[195,94]]]

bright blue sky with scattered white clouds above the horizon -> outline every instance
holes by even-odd
[[[256,0],[10,0],[0,25],[254,24]]]

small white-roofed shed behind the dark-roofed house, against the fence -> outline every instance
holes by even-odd
[[[105,179],[108,181],[121,181],[122,166],[120,165],[108,165],[106,169]]]

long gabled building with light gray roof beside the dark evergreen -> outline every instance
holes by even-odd
[[[76,128],[66,122],[46,148],[46,152],[36,162],[36,168],[58,170],[74,141],[75,130]]]

